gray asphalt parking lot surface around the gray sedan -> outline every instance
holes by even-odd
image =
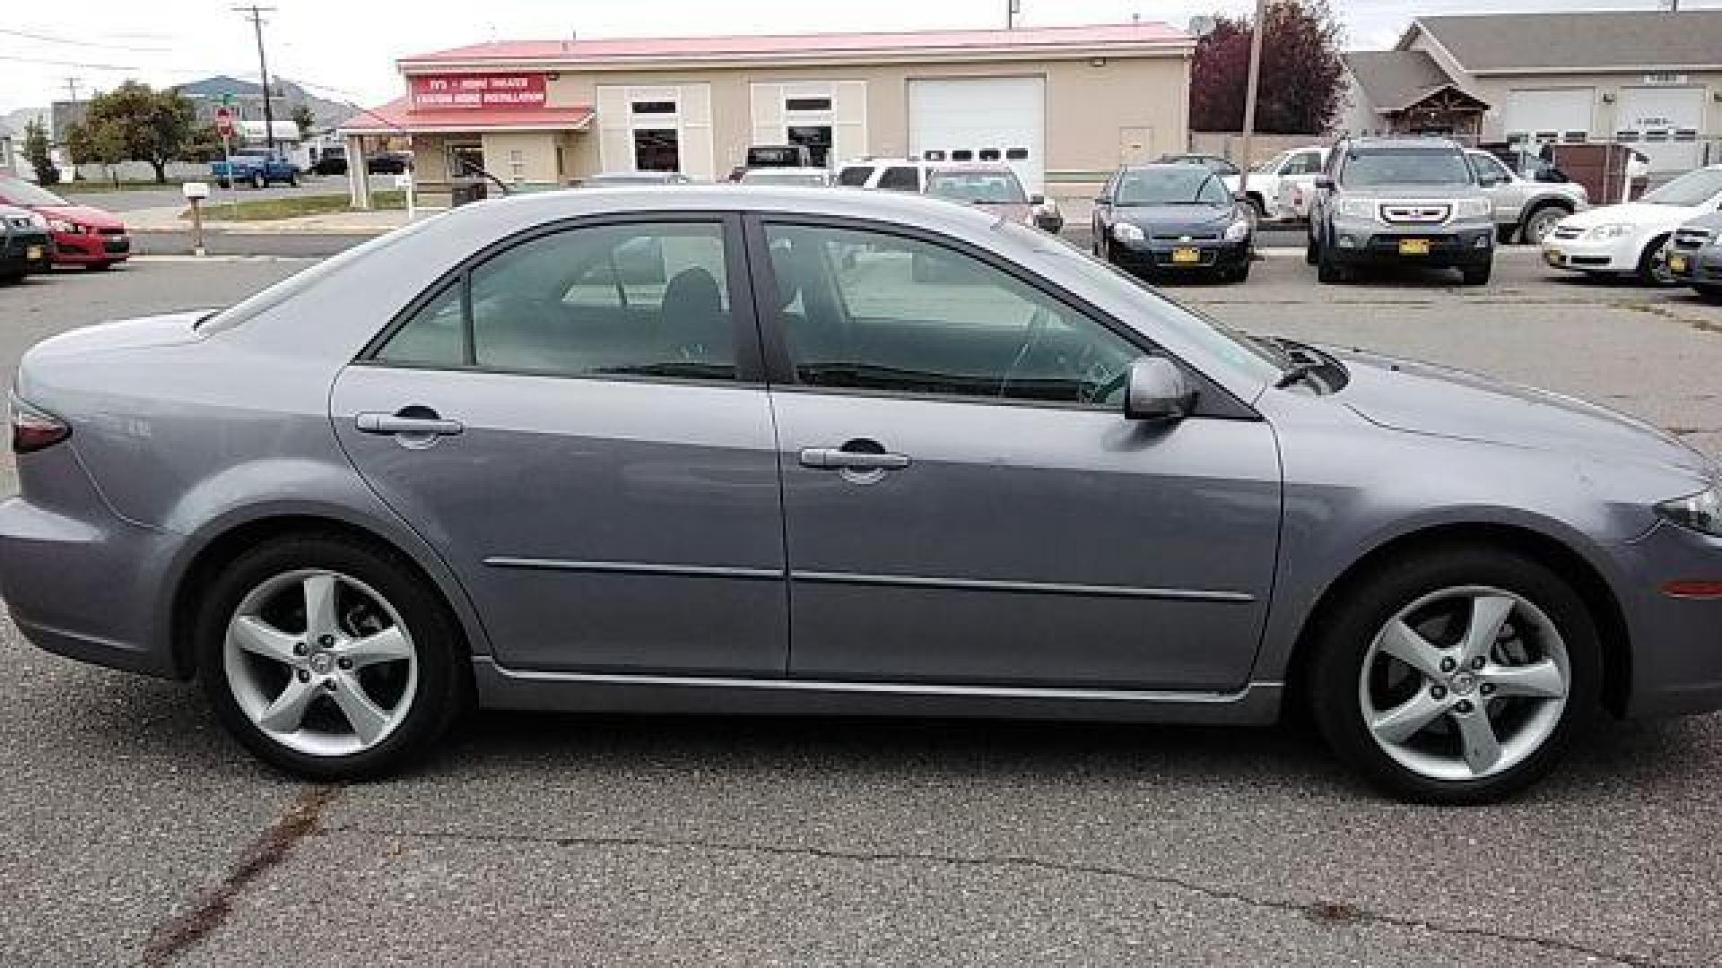
[[[143,258],[0,289],[0,369],[307,260]],[[1722,456],[1722,307],[1552,276],[1319,288],[1216,319],[1588,396]],[[0,462],[0,493],[14,487]],[[90,603],[100,608],[100,603]],[[1390,803],[1295,729],[479,715],[312,787],[189,686],[0,617],[0,965],[1722,963],[1722,717],[1610,723],[1529,796]]]

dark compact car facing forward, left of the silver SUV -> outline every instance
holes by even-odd
[[[1119,169],[1093,200],[1093,253],[1126,272],[1250,277],[1255,219],[1200,165]]]

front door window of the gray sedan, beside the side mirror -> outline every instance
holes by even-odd
[[[852,229],[768,226],[802,384],[1114,408],[1142,351],[968,255]]]

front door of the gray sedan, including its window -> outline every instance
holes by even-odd
[[[768,217],[790,675],[1231,689],[1279,465],[1121,415],[1140,336],[949,239]]]

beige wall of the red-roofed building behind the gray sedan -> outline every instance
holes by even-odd
[[[697,71],[565,71],[549,81],[549,103],[553,107],[596,105],[599,84],[709,84],[713,169],[722,177],[744,160],[753,140],[749,84],[756,81],[866,81],[868,153],[901,155],[909,146],[907,81],[911,78],[1025,74],[1040,74],[1047,79],[1045,162],[1052,193],[1092,195],[1092,184],[1118,167],[1123,129],[1149,129],[1154,153],[1185,150],[1190,62],[1181,53],[1109,57],[1100,67],[1081,59],[864,67],[773,69],[749,65]],[[553,155],[548,141],[539,140],[536,145],[539,152]],[[489,143],[486,157],[489,157]],[[565,177],[580,177],[601,169],[596,131],[575,136],[567,145],[567,167]],[[501,176],[501,172],[498,174]]]

